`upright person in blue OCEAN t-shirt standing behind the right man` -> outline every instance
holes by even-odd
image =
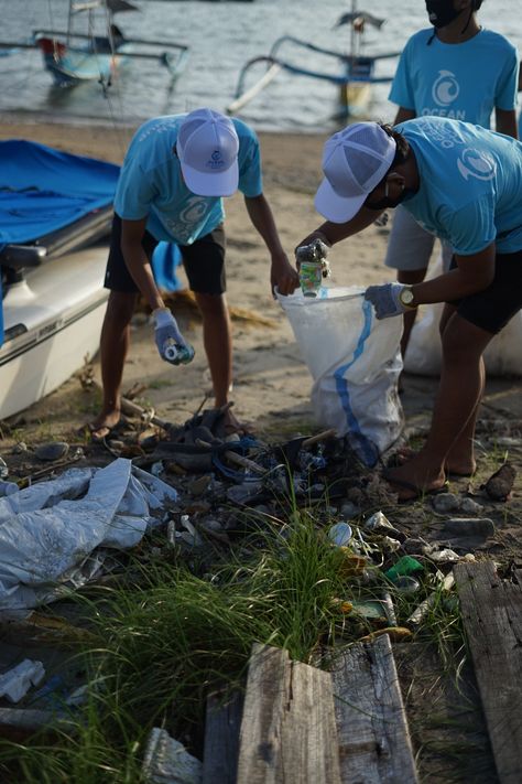
[[[499,33],[481,28],[477,11],[482,0],[426,0],[431,29],[406,42],[389,98],[399,106],[394,125],[426,115],[448,117],[490,127],[516,138],[515,47]],[[398,270],[398,281],[424,280],[434,237],[423,230],[409,212],[399,207],[384,264]],[[447,268],[452,248],[443,243]],[[401,343],[404,356],[415,312],[404,316]]]

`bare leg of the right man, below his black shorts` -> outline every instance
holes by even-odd
[[[493,335],[454,313],[443,333],[443,368],[432,428],[424,448],[412,460],[388,472],[388,477],[409,482],[421,490],[435,490],[445,481],[445,466],[455,444],[472,441],[467,428],[475,427],[483,389],[482,353]],[[400,496],[407,498],[412,492]]]

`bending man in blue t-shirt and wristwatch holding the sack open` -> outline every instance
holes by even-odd
[[[483,391],[482,353],[522,308],[522,142],[459,120],[420,117],[398,126],[359,122],[325,144],[315,196],[327,218],[301,245],[338,243],[403,204],[454,249],[432,280],[371,286],[378,319],[445,302],[443,367],[424,448],[387,480],[399,497],[436,492],[446,472],[476,470],[474,433]]]

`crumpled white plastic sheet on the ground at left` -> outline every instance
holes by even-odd
[[[48,601],[96,548],[133,547],[176,498],[174,487],[124,459],[0,498],[0,614]]]

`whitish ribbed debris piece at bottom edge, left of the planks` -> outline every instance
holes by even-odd
[[[203,764],[166,730],[153,727],[146,741],[142,766],[153,784],[202,784]]]

